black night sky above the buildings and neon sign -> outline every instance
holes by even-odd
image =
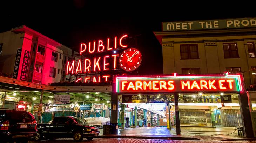
[[[138,48],[143,61],[138,73],[162,74],[162,48],[153,34],[153,31],[161,31],[161,22],[256,16],[254,5],[241,5],[241,2],[146,2],[9,1],[0,3],[4,8],[0,14],[0,32],[26,25],[76,51],[81,42],[107,39],[124,33],[128,36],[140,35],[137,37]]]

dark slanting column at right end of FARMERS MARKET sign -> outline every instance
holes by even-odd
[[[252,130],[252,122],[250,117],[249,105],[248,105],[248,97],[245,90],[244,77],[242,72],[238,72],[241,78],[242,89],[238,96],[238,101],[240,105],[241,118],[243,123],[243,132],[245,137],[254,137],[254,133]]]

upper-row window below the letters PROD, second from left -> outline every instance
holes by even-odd
[[[239,58],[237,43],[223,43],[225,58]]]

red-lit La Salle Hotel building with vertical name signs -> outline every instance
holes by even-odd
[[[0,33],[0,37],[1,73],[46,85],[70,81],[72,75],[66,75],[65,68],[72,59],[72,49],[25,25]]]

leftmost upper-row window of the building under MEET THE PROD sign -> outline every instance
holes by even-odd
[[[180,45],[181,59],[198,59],[197,44]]]

